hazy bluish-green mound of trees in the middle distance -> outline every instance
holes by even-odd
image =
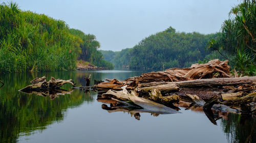
[[[131,69],[162,70],[173,67],[190,67],[191,64],[203,60],[209,51],[205,45],[217,34],[203,35],[199,33],[179,33],[169,27],[163,32],[151,35],[131,49],[115,52],[112,60],[115,68],[130,66]],[[108,53],[102,52],[110,57]]]

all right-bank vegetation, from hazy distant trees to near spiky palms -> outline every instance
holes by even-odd
[[[143,39],[133,48],[101,52],[115,68],[164,70],[220,59],[229,60],[231,68],[243,75],[255,75],[255,26],[255,1],[246,0],[231,9],[220,33],[203,35],[176,32],[170,26]],[[110,55],[114,58],[111,59]]]

